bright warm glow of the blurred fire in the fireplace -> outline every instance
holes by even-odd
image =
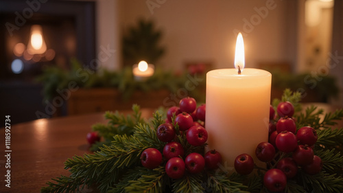
[[[32,25],[27,51],[29,54],[43,54],[47,51],[47,45],[45,44],[43,37],[43,30],[40,25]]]

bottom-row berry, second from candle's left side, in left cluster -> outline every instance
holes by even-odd
[[[187,155],[185,164],[190,173],[196,174],[204,170],[205,159],[197,152],[192,152],[191,154]]]

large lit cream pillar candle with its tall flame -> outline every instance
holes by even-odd
[[[257,161],[257,144],[268,141],[271,83],[272,74],[268,71],[244,68],[240,33],[235,68],[206,74],[207,150],[220,152],[224,166],[233,167],[235,158],[242,153]]]

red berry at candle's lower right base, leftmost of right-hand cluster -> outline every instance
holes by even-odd
[[[254,159],[246,153],[237,156],[235,159],[235,170],[242,175],[250,174],[254,170]]]

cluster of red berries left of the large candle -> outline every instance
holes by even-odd
[[[165,172],[171,179],[180,179],[185,171],[197,174],[204,170],[217,168],[222,161],[219,152],[210,150],[203,156],[198,152],[191,152],[185,156],[185,147],[178,141],[178,136],[185,135],[187,143],[192,146],[202,146],[206,143],[208,134],[204,128],[206,105],[198,106],[194,98],[183,98],[179,106],[172,106],[167,111],[167,120],[158,126],[156,135],[160,141],[166,142],[163,155],[156,148],[147,148],[141,154],[141,163],[145,168],[154,169],[165,163]],[[176,130],[172,124],[178,125]],[[163,159],[164,157],[164,159]],[[183,159],[185,158],[185,159]]]

